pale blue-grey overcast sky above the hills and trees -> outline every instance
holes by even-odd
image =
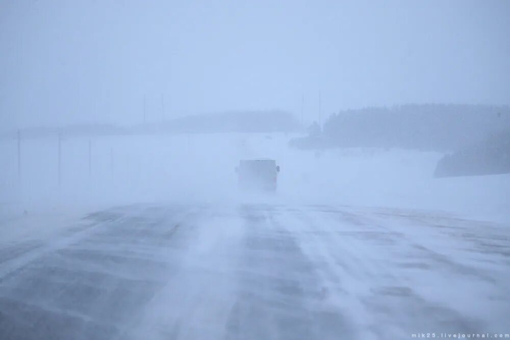
[[[510,102],[508,1],[0,0],[0,123]]]

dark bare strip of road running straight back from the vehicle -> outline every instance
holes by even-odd
[[[316,262],[302,252],[299,230],[285,207],[246,205],[240,293],[226,339],[352,338],[348,319],[324,305]]]

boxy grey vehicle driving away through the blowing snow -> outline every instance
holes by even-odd
[[[241,160],[236,168],[239,186],[245,190],[275,191],[280,167],[275,160]]]

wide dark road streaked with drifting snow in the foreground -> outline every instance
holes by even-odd
[[[509,237],[383,208],[118,207],[2,244],[0,338],[508,333]]]

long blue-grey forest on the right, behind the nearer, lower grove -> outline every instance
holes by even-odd
[[[510,128],[507,106],[406,104],[331,115],[322,131],[294,140],[301,148],[397,147],[453,151]]]

